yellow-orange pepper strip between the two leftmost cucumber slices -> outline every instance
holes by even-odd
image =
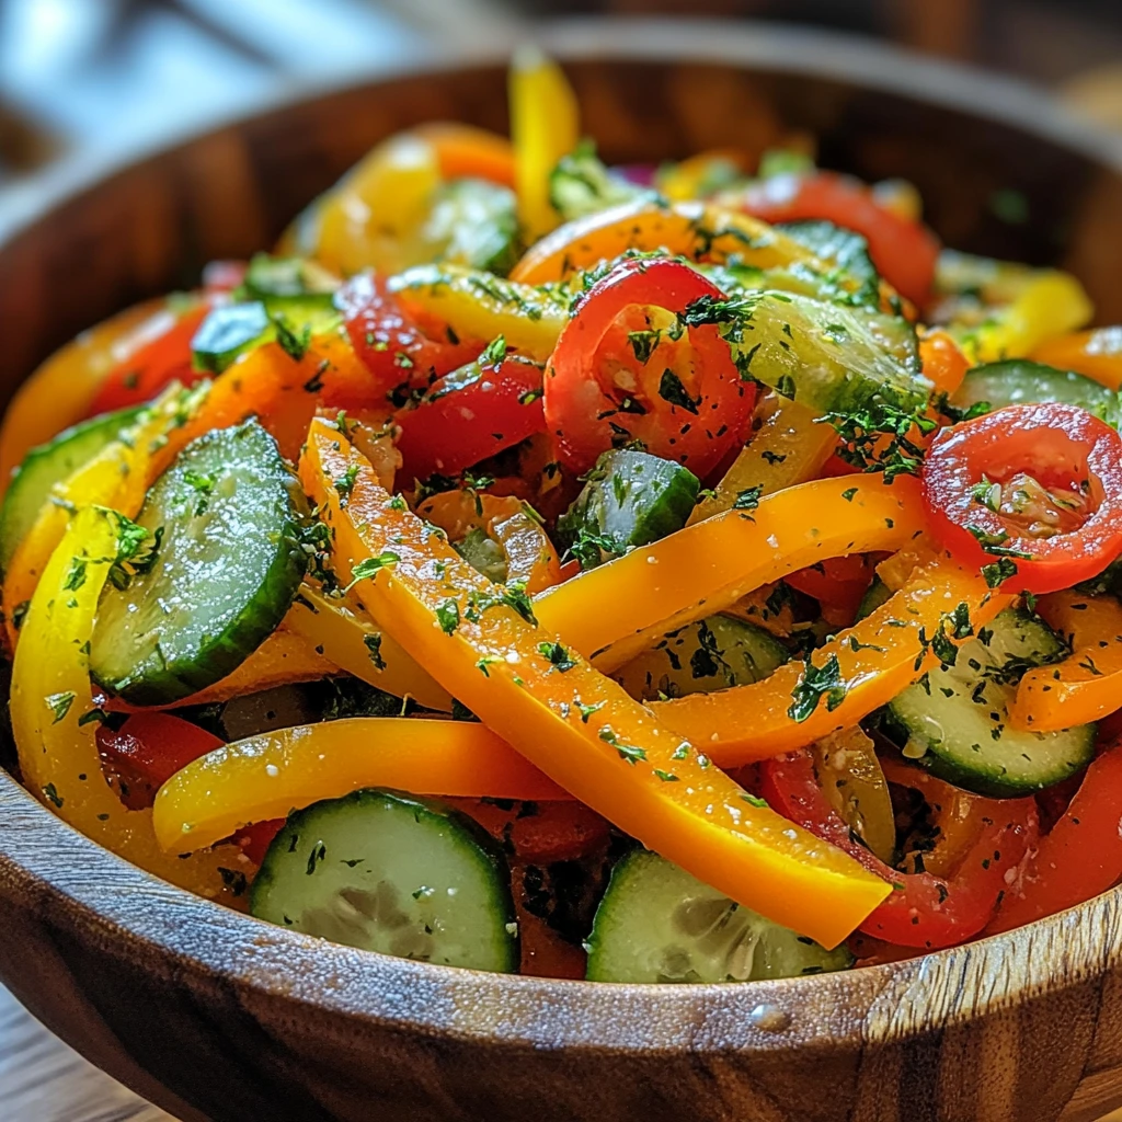
[[[26,605],[71,514],[83,506],[105,506],[135,517],[151,481],[186,442],[187,417],[206,393],[169,386],[139,415],[122,438],[57,484],[19,543],[3,583],[3,615],[9,650],[16,649]]]

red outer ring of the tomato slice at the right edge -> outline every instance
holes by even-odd
[[[1089,516],[1052,537],[1011,532],[1017,527],[974,489],[983,477],[1001,482],[1019,471],[1049,488],[1075,484],[1092,504]],[[931,531],[960,561],[1015,564],[1002,582],[1006,591],[1070,588],[1122,553],[1122,439],[1077,405],[1009,405],[935,438],[923,465],[923,502]]]

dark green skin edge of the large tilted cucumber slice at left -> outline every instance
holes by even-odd
[[[285,489],[286,503],[284,505],[287,511],[279,523],[270,527],[269,531],[270,534],[277,535],[278,548],[248,603],[236,611],[220,632],[206,636],[206,642],[191,651],[190,654],[183,653],[160,666],[156,665],[154,657],[144,657],[142,661],[134,663],[128,672],[114,675],[105,672],[105,660],[99,657],[101,653],[99,649],[103,644],[111,643],[112,636],[99,635],[95,629],[91,657],[91,671],[94,680],[130,705],[159,706],[178,701],[232,673],[276,629],[300,589],[307,567],[307,555],[301,548],[300,521],[306,516],[307,500],[295,476],[282,459],[276,442],[260,425],[250,421],[237,429],[214,430],[200,436],[180,453],[176,461],[168,468],[168,472],[174,471],[184,460],[197,461],[200,454],[205,458],[206,453],[212,450],[212,445],[218,444],[221,449],[220,442],[228,442],[231,439],[251,440],[260,445],[254,450],[255,453],[258,453],[255,463],[257,468],[255,486],[266,482],[266,477],[272,475],[273,481]],[[165,477],[166,475],[167,472]],[[139,516],[139,521],[145,525],[151,521],[146,517],[148,504],[153,495],[157,494],[165,477],[156,481],[149,491],[148,499],[145,500],[146,508],[140,512]],[[214,502],[222,502],[222,499],[215,498]],[[164,521],[163,514],[160,514],[155,519],[155,524],[163,524]],[[167,521],[171,521],[171,517]],[[149,528],[154,528],[154,526]],[[162,549],[166,545],[165,541]],[[151,577],[155,576],[157,576],[156,572],[148,577],[137,578],[131,588],[123,592],[107,587],[105,596],[102,598],[102,609],[105,597],[109,596],[139,599],[139,594],[148,588]],[[202,592],[205,591],[204,583]],[[119,660],[119,655],[114,654],[114,660]]]

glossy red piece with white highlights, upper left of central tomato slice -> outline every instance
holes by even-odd
[[[478,357],[489,342],[454,335],[431,339],[402,310],[385,280],[369,270],[352,276],[335,303],[356,353],[373,375],[369,405],[384,402],[397,386],[430,385]]]

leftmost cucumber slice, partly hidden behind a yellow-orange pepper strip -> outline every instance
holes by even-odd
[[[19,543],[35,525],[50,488],[89,463],[137,419],[141,406],[91,417],[33,448],[16,469],[0,506],[0,569],[7,569]]]

